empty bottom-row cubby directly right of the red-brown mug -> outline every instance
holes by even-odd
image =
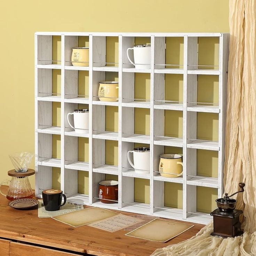
[[[122,210],[149,215],[149,185],[149,179],[122,177]]]

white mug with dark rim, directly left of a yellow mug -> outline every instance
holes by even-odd
[[[133,153],[134,163],[130,159],[130,153]],[[127,152],[127,159],[135,173],[146,174],[150,172],[150,148],[135,147]]]

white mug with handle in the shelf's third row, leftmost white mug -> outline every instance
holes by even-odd
[[[70,115],[74,116],[74,127],[69,121]],[[89,110],[75,109],[73,113],[67,113],[67,122],[75,130],[75,133],[89,133]]]

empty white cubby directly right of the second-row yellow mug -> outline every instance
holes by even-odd
[[[150,74],[122,74],[122,106],[150,108]]]

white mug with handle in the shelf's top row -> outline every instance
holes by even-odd
[[[130,59],[129,50],[133,50],[134,63]],[[133,48],[128,48],[126,54],[135,69],[150,69],[151,45],[135,45]]]

